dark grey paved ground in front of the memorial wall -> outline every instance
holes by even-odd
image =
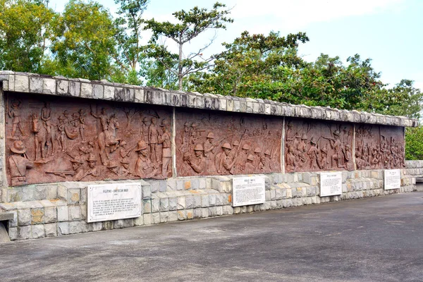
[[[0,281],[423,281],[423,192],[6,243]]]

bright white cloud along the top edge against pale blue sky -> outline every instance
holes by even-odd
[[[404,0],[232,0],[235,20],[267,18],[286,28],[302,28],[312,23],[401,9]],[[260,23],[257,23],[260,25]]]

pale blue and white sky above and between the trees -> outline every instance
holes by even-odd
[[[401,79],[415,81],[423,90],[422,27],[423,0],[220,0],[231,8],[234,22],[218,30],[209,54],[223,51],[222,42],[233,42],[244,30],[288,35],[306,32],[309,42],[300,44],[299,54],[314,61],[319,54],[348,56],[360,54],[372,59],[381,80],[393,87]],[[67,1],[51,0],[49,6],[63,11]],[[114,0],[98,1],[112,14],[118,6]],[[172,13],[194,6],[212,8],[216,0],[150,0],[145,18],[174,21]],[[209,42],[215,32],[192,40],[185,54]],[[149,39],[146,32],[144,39]],[[172,42],[166,42],[171,46]],[[207,55],[204,52],[204,55]]]

